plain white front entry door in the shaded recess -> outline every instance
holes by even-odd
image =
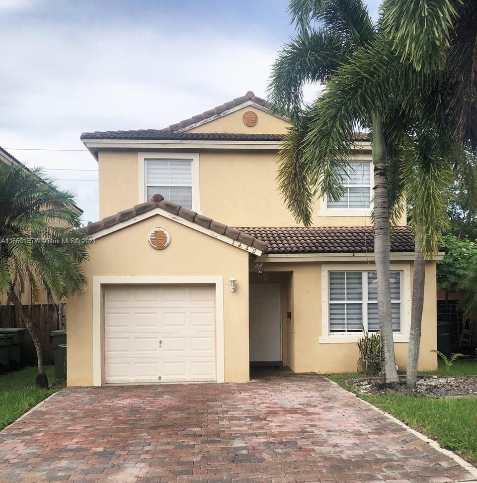
[[[250,361],[281,361],[279,285],[250,286],[248,321]]]

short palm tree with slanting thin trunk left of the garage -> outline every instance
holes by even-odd
[[[39,170],[0,165],[0,301],[12,303],[30,334],[38,359],[37,386],[48,387],[38,329],[22,304],[50,301],[84,287],[86,245],[76,234],[72,194],[43,180]]]

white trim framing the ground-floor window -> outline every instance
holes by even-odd
[[[375,271],[375,264],[326,264],[321,265],[321,335],[320,344],[353,343],[363,336],[362,333],[351,334],[330,333],[328,323],[328,272],[331,271]],[[411,324],[411,268],[410,264],[391,264],[391,271],[401,272],[401,322],[400,331],[393,332],[395,342],[409,342]]]

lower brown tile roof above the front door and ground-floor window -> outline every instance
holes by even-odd
[[[268,242],[265,253],[367,253],[374,252],[373,227],[237,227]],[[414,236],[407,226],[397,227],[392,252],[413,252]]]

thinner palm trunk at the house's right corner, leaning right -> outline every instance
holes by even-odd
[[[416,247],[414,249],[414,276],[412,281],[411,328],[409,331],[409,347],[407,349],[406,385],[409,389],[415,389],[417,385],[417,363],[419,362],[419,345],[421,343],[425,278],[426,262],[422,253]]]

